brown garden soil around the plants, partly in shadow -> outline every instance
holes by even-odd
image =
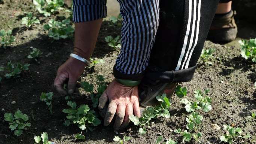
[[[42,30],[42,25],[49,19],[63,19],[64,13],[58,17],[51,16],[44,18],[40,16],[40,25],[33,26],[31,29],[21,25],[21,18],[25,11],[37,13],[33,8],[31,0],[5,0],[0,4],[0,29],[13,29],[16,42],[6,50],[0,49],[0,66],[6,66],[8,61],[30,63],[29,70],[22,73],[16,79],[3,79],[0,82],[0,144],[33,144],[34,136],[42,132],[49,134],[49,139],[55,144],[106,144],[114,143],[115,135],[132,137],[130,144],[154,144],[159,135],[175,141],[182,142],[182,137],[175,134],[172,130],[177,128],[184,129],[186,113],[179,98],[171,98],[170,119],[159,118],[151,123],[147,134],[138,135],[138,127],[130,124],[126,130],[116,134],[113,125],[108,127],[96,127],[93,132],[83,132],[86,136],[85,141],[74,140],[74,134],[80,132],[77,126],[64,126],[65,114],[63,108],[67,108],[64,96],[61,96],[53,88],[53,82],[58,67],[68,58],[72,51],[73,40],[65,39],[54,41],[49,39],[47,33]],[[247,22],[237,21],[238,36],[242,38],[256,37],[255,26]],[[248,30],[248,31],[247,31]],[[244,32],[244,33],[242,33]],[[247,33],[249,32],[249,33]],[[98,42],[92,58],[104,59],[104,64],[98,64],[92,68],[86,68],[81,76],[81,80],[95,84],[95,76],[102,74],[107,82],[113,79],[112,68],[118,51],[113,50],[104,41],[104,37],[117,36],[120,28],[104,21],[98,37]],[[27,58],[31,48],[40,49],[43,52],[39,59],[40,64]],[[193,91],[196,89],[210,89],[213,109],[209,113],[201,113],[204,117],[200,126],[202,132],[202,144],[220,144],[219,137],[223,130],[215,131],[211,124],[231,125],[232,123],[241,127],[245,133],[249,133],[252,138],[246,140],[235,140],[234,144],[255,144],[256,143],[256,119],[249,118],[252,112],[256,112],[256,64],[246,61],[240,56],[240,47],[235,43],[228,46],[214,44],[206,41],[204,47],[215,48],[212,65],[201,65],[196,69],[194,78],[191,82],[182,83],[188,88],[189,98],[193,98]],[[50,53],[50,54],[49,54]],[[199,61],[200,65],[200,61]],[[0,76],[4,73],[1,72]],[[49,113],[45,103],[40,101],[42,92],[54,92],[53,115]],[[16,104],[11,104],[16,101]],[[73,95],[72,101],[77,104],[91,104],[88,95],[81,89]],[[20,137],[16,137],[10,131],[8,123],[4,121],[4,113],[21,110],[29,116],[31,127],[25,130]],[[33,113],[31,112],[33,110]],[[96,110],[96,109],[95,109]],[[97,110],[96,110],[97,111]],[[32,118],[34,117],[34,119]],[[103,122],[103,121],[102,121]],[[244,141],[243,141],[244,140]],[[196,143],[192,141],[191,143]]]

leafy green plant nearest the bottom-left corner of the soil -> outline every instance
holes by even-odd
[[[27,114],[22,114],[20,110],[17,110],[14,113],[14,116],[12,113],[5,113],[4,120],[9,122],[9,128],[11,129],[11,131],[14,131],[14,134],[16,136],[22,135],[23,130],[27,130],[26,127],[30,127],[30,123],[27,122]]]

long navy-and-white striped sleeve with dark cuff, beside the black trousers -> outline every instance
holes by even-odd
[[[149,58],[159,25],[159,0],[118,0],[122,23],[121,52],[114,76],[140,80]]]

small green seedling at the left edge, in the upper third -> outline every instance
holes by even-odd
[[[15,42],[14,36],[12,36],[12,30],[1,30],[0,31],[0,44],[3,46],[4,49],[6,49],[7,46],[10,46],[13,42]]]

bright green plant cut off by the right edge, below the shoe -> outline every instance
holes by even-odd
[[[239,40],[241,55],[245,59],[252,59],[256,63],[256,38],[250,40]]]

